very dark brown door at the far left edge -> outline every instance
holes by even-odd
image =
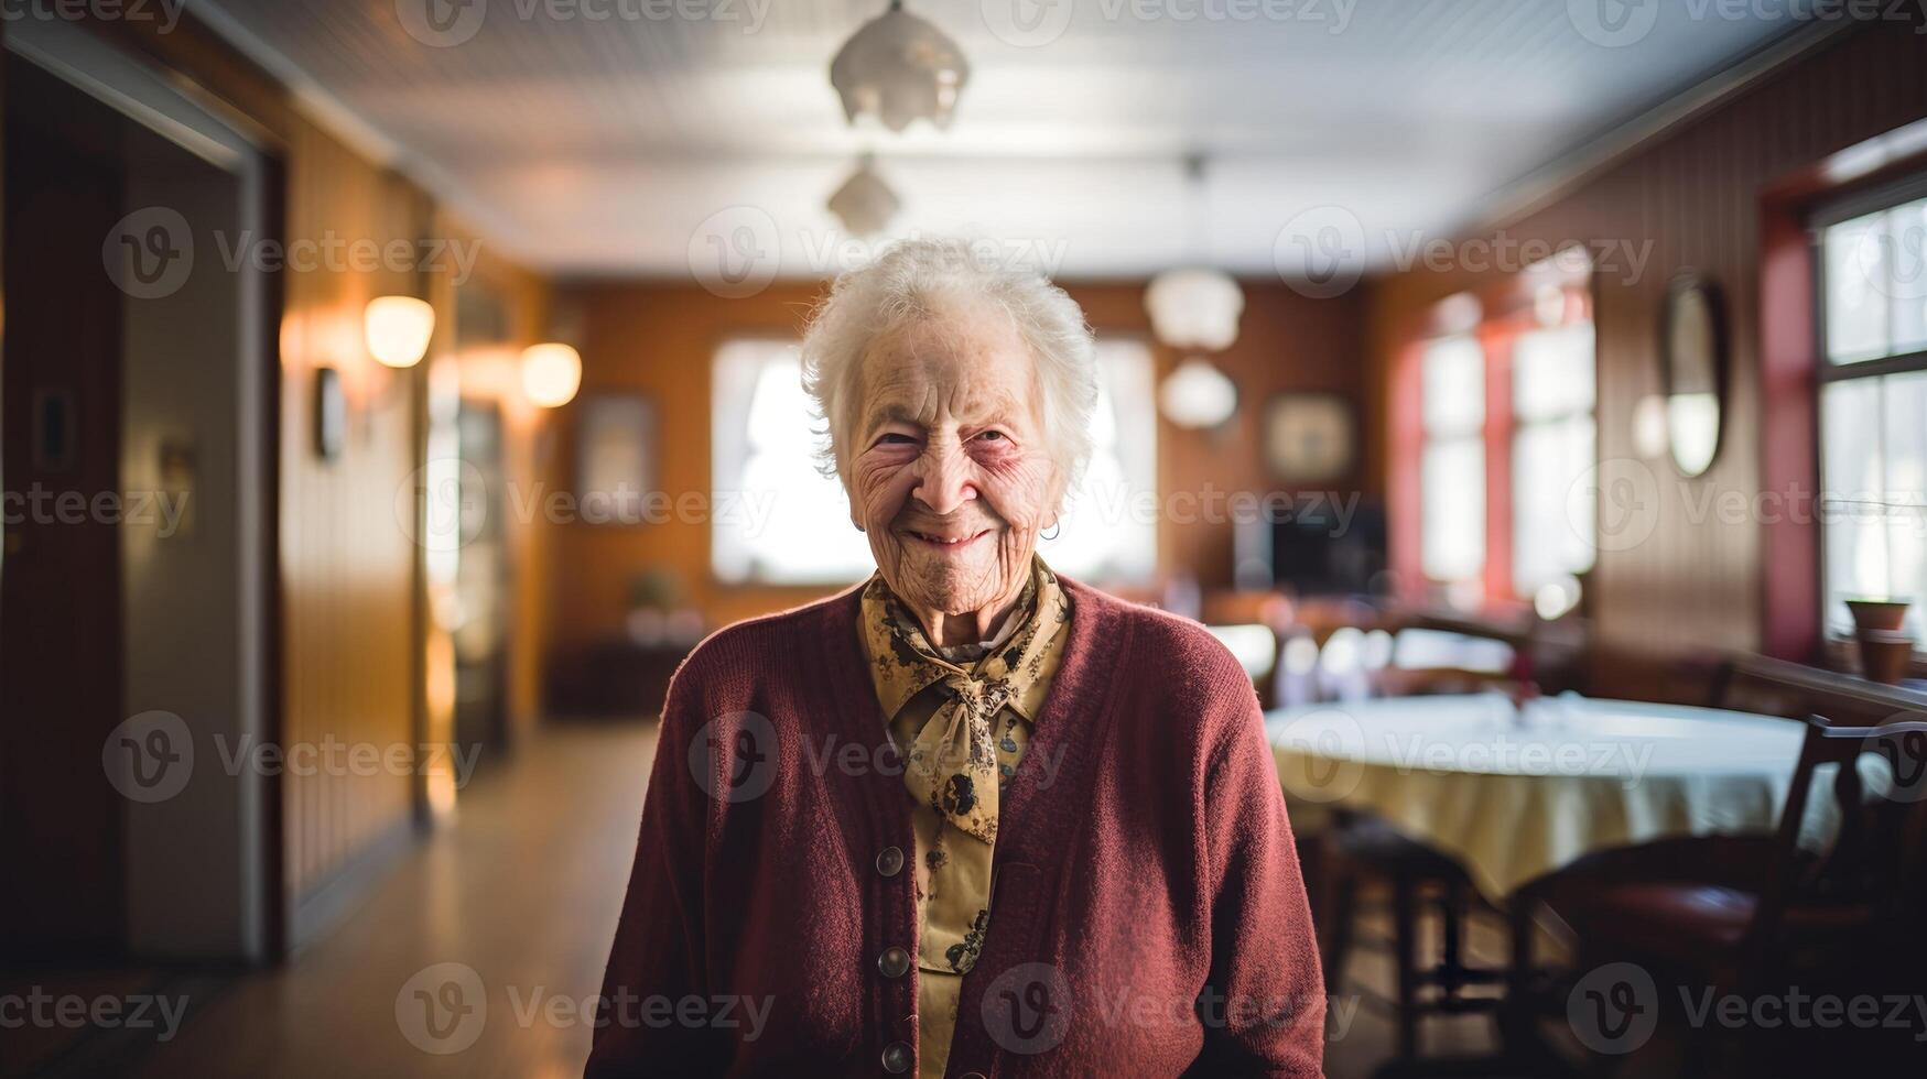
[[[92,509],[119,489],[121,119],[17,58],[6,100],[0,952],[75,958],[123,925],[119,532]]]

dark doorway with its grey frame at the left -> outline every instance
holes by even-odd
[[[79,27],[6,46],[0,948],[258,960],[264,158]]]

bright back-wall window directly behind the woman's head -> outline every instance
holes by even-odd
[[[1102,339],[1096,356],[1091,466],[1039,551],[1075,578],[1148,580],[1158,555],[1150,349]],[[757,584],[848,584],[867,576],[875,563],[869,541],[850,524],[842,484],[817,472],[821,432],[802,387],[796,343],[725,343],[713,387],[715,576]]]

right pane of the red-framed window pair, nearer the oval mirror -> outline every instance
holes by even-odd
[[[1513,592],[1524,599],[1592,568],[1596,507],[1574,486],[1596,455],[1594,395],[1592,322],[1513,343]]]

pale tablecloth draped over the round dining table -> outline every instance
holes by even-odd
[[[1771,832],[1804,726],[1578,696],[1518,711],[1478,694],[1280,709],[1266,734],[1297,827],[1324,805],[1376,813],[1503,900],[1596,850]]]

